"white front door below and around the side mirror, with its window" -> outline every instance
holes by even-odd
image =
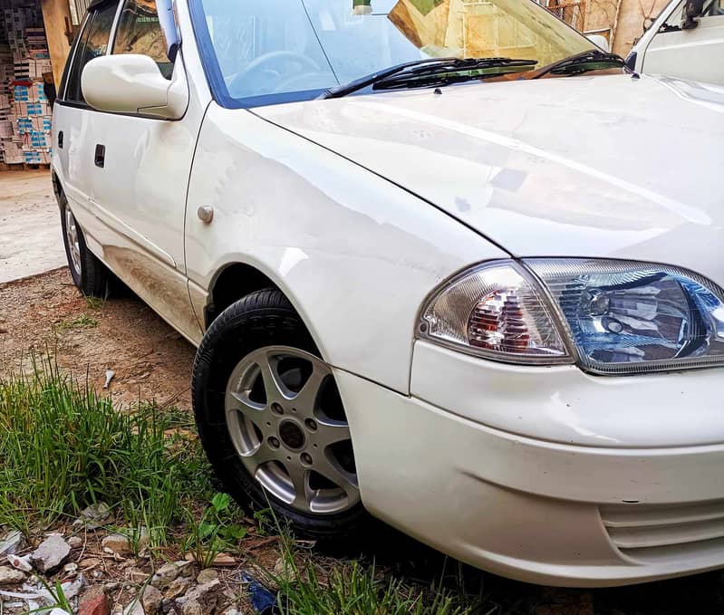
[[[186,79],[166,43],[153,0],[123,0],[110,54],[141,53],[167,79]],[[201,330],[188,298],[184,219],[188,176],[205,109],[191,96],[181,120],[95,113],[86,155],[93,199],[103,224],[102,259],[130,288],[189,340]]]

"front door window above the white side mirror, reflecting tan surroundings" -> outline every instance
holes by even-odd
[[[116,31],[113,53],[148,55],[159,65],[163,76],[171,78],[173,62],[169,60],[154,0],[126,0]]]

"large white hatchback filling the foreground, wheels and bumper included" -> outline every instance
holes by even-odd
[[[529,0],[157,4],[92,3],[53,181],[82,291],[198,345],[230,493],[524,581],[724,565],[724,98]]]

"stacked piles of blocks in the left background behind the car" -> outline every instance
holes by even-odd
[[[50,162],[52,111],[43,73],[51,71],[40,3],[0,0],[0,162]]]

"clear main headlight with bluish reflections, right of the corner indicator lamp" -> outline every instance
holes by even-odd
[[[676,267],[530,260],[565,317],[581,367],[637,373],[724,364],[724,293]]]

